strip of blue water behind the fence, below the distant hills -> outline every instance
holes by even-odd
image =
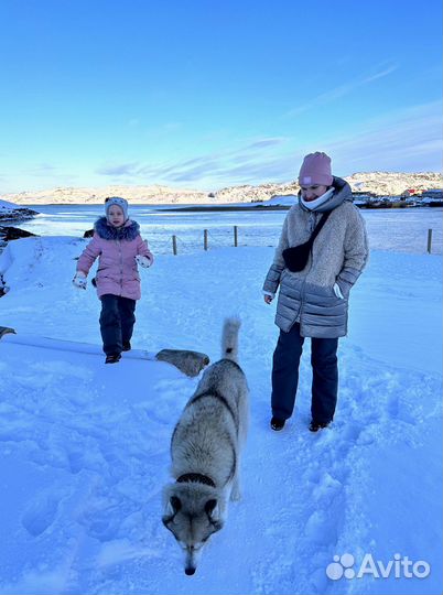
[[[19,227],[43,236],[83,236],[102,215],[101,205],[39,205],[40,215]],[[172,236],[180,253],[203,249],[203,230],[208,247],[234,245],[234,226],[239,246],[275,246],[285,210],[181,212],[165,206],[130,205],[130,216],[140,224],[154,253],[172,252]],[[432,229],[432,252],[443,252],[443,208],[360,210],[371,249],[424,253],[428,229]]]

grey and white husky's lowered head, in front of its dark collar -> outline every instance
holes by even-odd
[[[217,489],[198,483],[171,484],[163,499],[163,524],[185,553],[185,573],[194,574],[206,542],[223,528],[224,500]]]

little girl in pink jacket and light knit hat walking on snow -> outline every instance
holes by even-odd
[[[106,364],[117,364],[131,348],[136,301],[140,300],[137,264],[148,268],[153,256],[140,236],[139,224],[128,218],[128,203],[112,196],[105,204],[106,217],[94,226],[94,237],[78,259],[73,283],[86,289],[86,278],[97,257],[96,286],[101,300],[100,332]]]

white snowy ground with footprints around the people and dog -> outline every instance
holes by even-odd
[[[99,302],[71,285],[76,238],[23,239],[0,257],[0,325],[99,344]],[[306,345],[296,412],[269,430],[274,305],[261,298],[271,248],[159,256],[142,271],[137,349],[218,358],[240,314],[251,392],[244,499],[197,573],[160,522],[169,440],[197,379],[168,364],[0,340],[0,593],[437,595],[443,561],[442,257],[372,251],[341,340],[331,430],[311,434]],[[63,343],[60,342],[60,347]],[[334,555],[425,561],[425,578],[327,577]],[[345,560],[345,559],[344,559]]]

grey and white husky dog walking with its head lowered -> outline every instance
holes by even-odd
[[[204,372],[171,439],[174,484],[163,490],[163,524],[195,573],[203,547],[225,522],[227,502],[240,499],[240,447],[248,425],[248,385],[237,364],[240,321],[227,318],[222,359]]]

